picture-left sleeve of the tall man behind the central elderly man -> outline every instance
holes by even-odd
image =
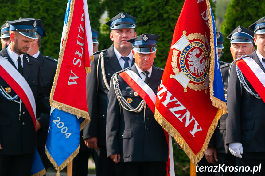
[[[87,103],[90,122],[84,127],[83,139],[98,136],[97,119],[97,60],[90,62],[91,73],[87,73]]]

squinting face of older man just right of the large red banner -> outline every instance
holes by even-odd
[[[251,43],[231,43],[230,51],[234,60],[244,55],[250,55],[254,52],[254,46]]]

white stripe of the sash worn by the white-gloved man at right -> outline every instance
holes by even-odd
[[[246,64],[249,66],[252,72],[256,75],[256,77],[259,79],[261,84],[263,84],[263,86],[265,87],[265,73],[260,68],[258,63],[250,57],[245,57],[243,58],[243,60],[246,62]]]

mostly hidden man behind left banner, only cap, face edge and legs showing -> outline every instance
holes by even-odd
[[[99,32],[91,28],[93,40],[93,53],[99,48]],[[83,139],[83,129],[80,131],[80,149],[79,153],[73,159],[73,176],[87,176],[88,175],[88,159],[90,154],[94,159],[94,149],[88,148]]]

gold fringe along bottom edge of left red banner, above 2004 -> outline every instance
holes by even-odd
[[[70,114],[73,114],[73,115],[88,119],[90,121],[88,112],[86,112],[84,110],[80,110],[80,109],[77,109],[75,107],[71,107],[71,106],[68,106],[68,105],[65,105],[65,104],[61,104],[61,103],[56,102],[54,100],[50,101],[50,106],[52,106],[52,107],[54,107],[56,109],[62,110],[64,112],[68,112]]]

